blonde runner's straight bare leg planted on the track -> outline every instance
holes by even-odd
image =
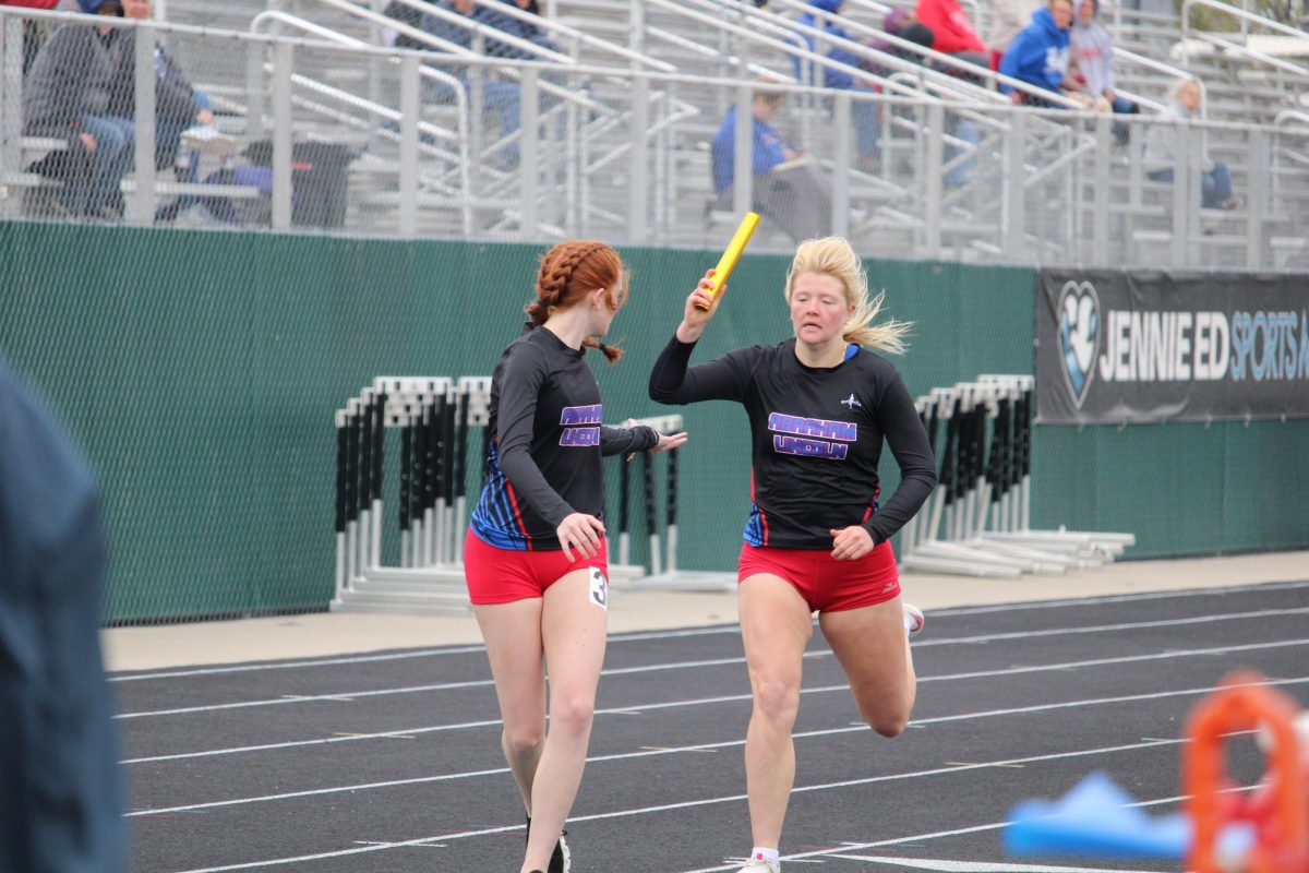
[[[796,777],[791,729],[800,711],[804,652],[813,622],[791,582],[768,573],[742,581],[738,601],[754,695],[745,737],[750,832],[755,846],[776,848]]]

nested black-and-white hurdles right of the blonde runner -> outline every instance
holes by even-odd
[[[1030,376],[984,374],[918,398],[940,472],[906,525],[905,569],[1063,573],[1101,567],[1135,543],[1132,534],[1030,529],[1033,389]]]

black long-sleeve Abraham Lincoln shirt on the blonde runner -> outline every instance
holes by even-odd
[[[863,525],[881,543],[936,486],[932,446],[889,361],[851,346],[836,366],[805,366],[796,340],[751,346],[687,369],[694,343],[674,336],[651,372],[660,403],[736,401],[750,416],[753,546],[831,548],[831,530]],[[901,484],[878,508],[882,438]]]

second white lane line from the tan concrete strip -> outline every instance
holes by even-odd
[[[928,647],[942,647],[942,645],[977,645],[983,643],[997,643],[1001,640],[1020,640],[1043,636],[1069,636],[1073,633],[1101,633],[1111,631],[1136,631],[1136,630],[1157,630],[1161,627],[1177,627],[1187,624],[1202,624],[1211,622],[1228,622],[1228,620],[1241,620],[1241,619],[1268,619],[1279,615],[1302,615],[1309,614],[1309,606],[1297,607],[1289,610],[1261,610],[1253,613],[1230,613],[1221,615],[1204,615],[1204,616],[1191,616],[1179,619],[1165,619],[1160,622],[1131,622],[1127,624],[1100,624],[1092,627],[1060,627],[1041,631],[1014,631],[1008,633],[984,633],[978,636],[959,636],[959,637],[945,637],[945,639],[928,639],[920,640],[914,644],[914,648],[928,648]],[[806,652],[806,658],[826,658],[831,656],[830,649],[816,649],[813,652]],[[654,673],[661,670],[682,670],[682,669],[700,669],[707,666],[726,666],[732,664],[745,664],[745,657],[732,657],[732,658],[709,658],[703,661],[679,661],[672,664],[651,664],[632,668],[613,668],[609,670],[602,670],[601,675],[631,675],[636,673]],[[175,715],[191,715],[199,712],[220,712],[224,709],[242,709],[250,707],[275,707],[285,705],[292,703],[312,703],[321,700],[339,700],[342,698],[373,698],[373,696],[386,696],[398,694],[419,694],[431,691],[448,691],[452,688],[474,688],[474,687],[490,687],[492,685],[491,679],[470,679],[466,682],[437,682],[432,685],[415,685],[404,686],[397,688],[374,688],[369,691],[338,691],[334,694],[323,695],[301,695],[295,698],[280,696],[260,700],[240,700],[234,703],[212,703],[198,707],[178,707],[173,709],[152,709],[145,712],[123,712],[115,715],[115,719],[128,720],[128,719],[148,719],[158,716],[175,716]]]

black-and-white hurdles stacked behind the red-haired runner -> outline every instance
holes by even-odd
[[[463,582],[463,535],[467,529],[469,479],[484,475],[491,433],[487,428],[491,378],[465,376],[382,376],[350,398],[335,415],[336,424],[336,568],[332,610],[469,611]],[[682,416],[641,419],[637,424],[660,433],[682,429]],[[387,437],[387,435],[391,435]],[[397,442],[398,446],[394,444]],[[387,452],[391,442],[394,457]],[[469,470],[470,445],[480,442],[482,462]],[[395,452],[398,449],[398,452]],[[610,577],[619,588],[724,590],[734,588],[732,573],[687,573],[677,565],[677,450],[657,458],[619,463],[618,555]],[[632,479],[639,463],[649,569],[632,565],[635,518]],[[384,488],[384,474],[398,467],[398,483]],[[657,486],[666,483],[662,530]],[[399,560],[384,561],[387,512],[399,533]],[[613,530],[610,531],[613,535]],[[614,555],[611,555],[611,559]]]

